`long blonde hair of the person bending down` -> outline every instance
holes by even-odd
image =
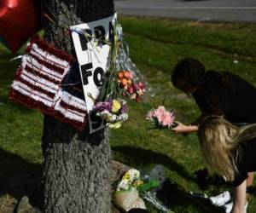
[[[223,117],[208,116],[197,135],[208,169],[217,170],[226,181],[234,181],[241,152],[239,143],[256,137],[256,124],[239,128]]]

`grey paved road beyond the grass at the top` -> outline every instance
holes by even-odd
[[[256,0],[115,0],[119,14],[256,23]]]

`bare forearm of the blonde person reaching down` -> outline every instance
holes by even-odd
[[[241,213],[244,212],[246,204],[246,194],[247,194],[247,181],[243,181],[238,187],[234,189],[234,200],[233,208],[231,213]]]

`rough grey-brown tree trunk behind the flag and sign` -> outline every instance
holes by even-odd
[[[42,13],[55,20],[44,20],[44,39],[73,54],[70,33],[58,23],[72,26],[106,18],[113,14],[113,0],[44,0]],[[42,150],[44,212],[110,212],[108,130],[79,133],[44,116]]]

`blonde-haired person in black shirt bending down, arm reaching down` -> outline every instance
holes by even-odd
[[[232,213],[244,212],[247,173],[256,171],[256,124],[237,127],[223,117],[208,116],[197,133],[208,170],[217,170],[235,187]]]

